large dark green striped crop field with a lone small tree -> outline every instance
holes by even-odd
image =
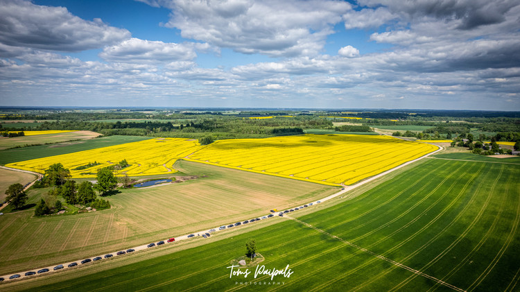
[[[132,264],[102,261],[4,290],[517,291],[519,175],[513,164],[426,160],[349,200],[291,213],[295,219],[276,217],[271,222],[279,223],[236,229],[204,246],[182,250],[189,243],[180,243],[177,252],[171,245],[162,254],[142,252]],[[289,265],[293,274],[255,278],[250,268],[248,277],[231,276],[227,267],[248,239],[257,241],[261,265]]]

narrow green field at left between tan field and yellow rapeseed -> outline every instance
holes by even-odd
[[[37,136],[47,136],[47,135],[35,135],[35,136],[27,136],[36,137]],[[22,137],[20,137],[22,138]],[[8,138],[15,139],[15,138]],[[0,164],[5,165],[12,162],[19,162],[24,160],[31,160],[36,158],[48,157],[53,155],[67,154],[78,151],[90,150],[95,148],[119,145],[124,143],[130,143],[135,141],[142,141],[150,139],[149,137],[139,137],[139,136],[108,136],[101,137],[96,139],[87,139],[83,141],[69,141],[58,144],[49,144],[49,145],[40,145],[40,146],[30,146],[30,147],[22,147],[22,148],[14,148],[14,149],[6,149],[0,151]],[[34,141],[34,144],[38,143],[37,140]],[[51,140],[53,141],[53,140]]]

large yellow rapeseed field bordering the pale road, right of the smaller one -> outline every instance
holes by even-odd
[[[375,135],[302,135],[219,140],[188,160],[323,184],[353,184],[435,151]]]

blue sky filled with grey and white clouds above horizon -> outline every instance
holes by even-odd
[[[0,105],[520,110],[518,0],[0,0]]]

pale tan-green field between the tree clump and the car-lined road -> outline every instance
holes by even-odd
[[[112,209],[98,212],[33,218],[33,208],[0,216],[0,275],[243,221],[338,190],[195,162],[175,168],[200,178],[122,190],[107,198]],[[46,191],[29,191],[28,204]]]

